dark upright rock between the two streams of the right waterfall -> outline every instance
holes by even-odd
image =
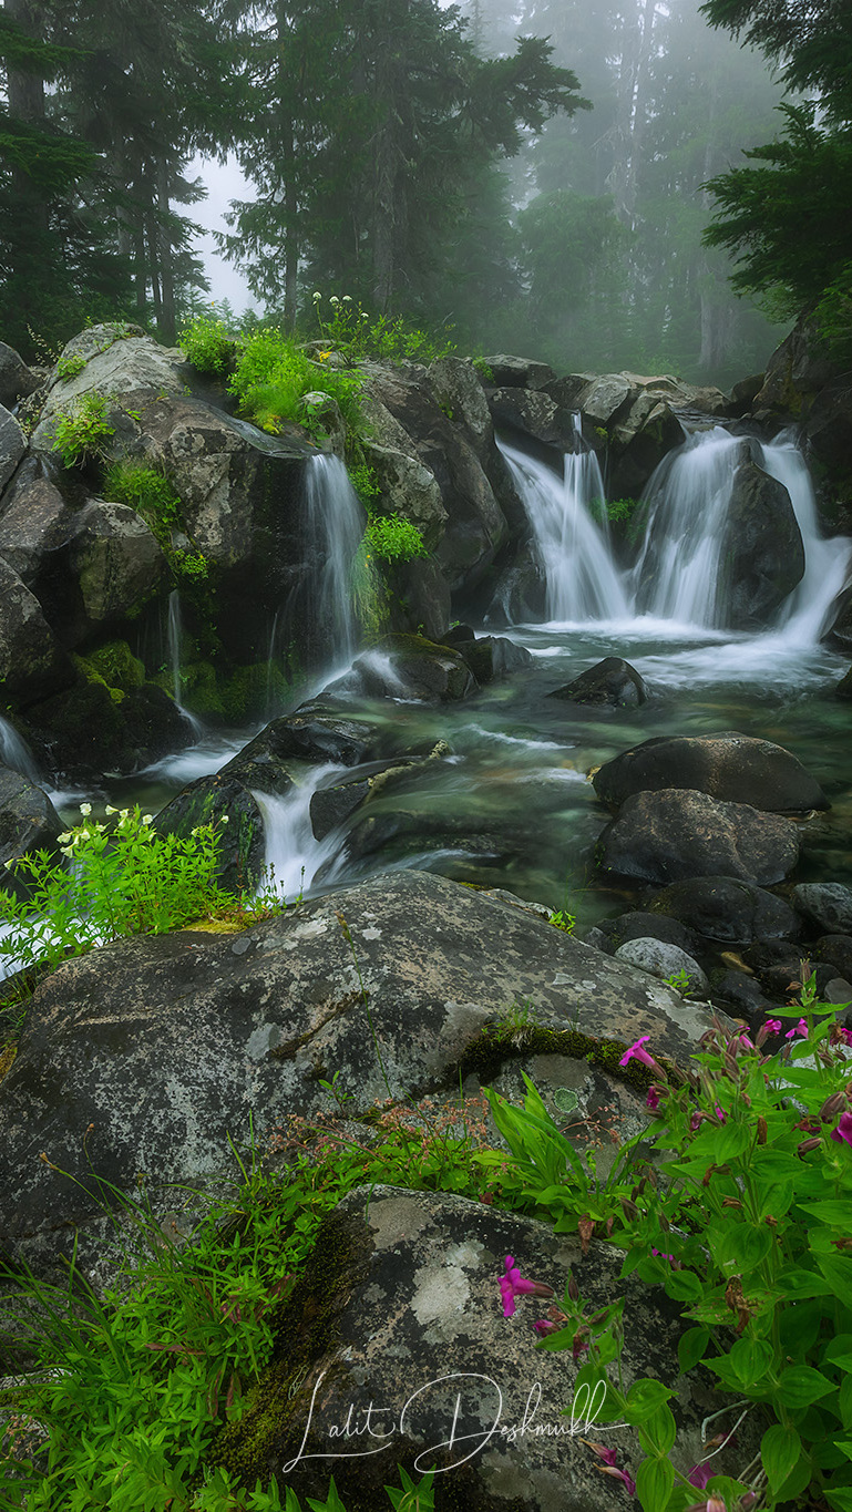
[[[734,473],[719,561],[719,602],[734,629],[764,626],[805,572],[790,494],[751,458]]]

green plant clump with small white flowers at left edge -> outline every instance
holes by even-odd
[[[115,809],[107,809],[115,813]],[[110,832],[80,807],[83,823],[59,836],[68,866],[45,850],[6,862],[26,898],[0,891],[5,948],[21,969],[50,969],[123,934],[165,934],[236,900],[216,883],[218,832],[200,826],[189,839],[157,835],[151,815],[123,809]]]

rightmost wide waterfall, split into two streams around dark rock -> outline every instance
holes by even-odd
[[[743,437],[714,426],[690,435],[657,467],[643,494],[646,535],[631,575],[636,612],[725,627],[720,553],[743,445]],[[787,488],[805,549],[805,575],[778,611],[776,626],[787,626],[791,641],[813,644],[843,585],[849,543],[823,538],[808,469],[790,435],[751,446],[758,466]]]

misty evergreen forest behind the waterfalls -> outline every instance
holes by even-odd
[[[251,186],[222,248],[263,319],[310,331],[319,289],[729,384],[826,287],[846,319],[850,33],[843,0],[5,0],[0,336],[173,342],[204,154]]]

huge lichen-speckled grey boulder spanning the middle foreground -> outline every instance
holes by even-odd
[[[577,1025],[580,1054],[614,1040],[614,1061],[649,1034],[684,1064],[710,1027],[654,977],[427,872],[386,872],[236,936],[182,930],[65,962],[36,987],[0,1083],[0,1244],[44,1267],[82,1225],[91,1269],[110,1228],[98,1178],[136,1194],[141,1173],[154,1207],[174,1204],[160,1184],[236,1178],[229,1139],[241,1149],[253,1129],[265,1149],[289,1114],[327,1111],[334,1072],[356,1111],[389,1087],[457,1089],[484,1027],[519,999],[545,1028]]]

